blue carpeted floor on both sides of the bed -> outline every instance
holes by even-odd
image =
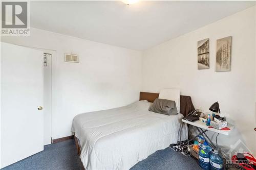
[[[1,170],[82,170],[74,139],[49,144],[45,150]],[[197,160],[166,148],[138,162],[130,170],[201,169]]]

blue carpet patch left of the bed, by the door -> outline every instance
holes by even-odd
[[[44,151],[11,164],[1,170],[79,170],[82,169],[77,155],[75,140],[49,144]]]

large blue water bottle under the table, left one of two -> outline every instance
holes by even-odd
[[[199,144],[199,165],[204,170],[210,169],[210,154],[203,144]]]

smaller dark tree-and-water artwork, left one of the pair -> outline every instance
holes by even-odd
[[[210,68],[209,38],[197,42],[197,69]]]

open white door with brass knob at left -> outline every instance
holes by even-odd
[[[1,168],[44,150],[43,53],[1,43]]]

